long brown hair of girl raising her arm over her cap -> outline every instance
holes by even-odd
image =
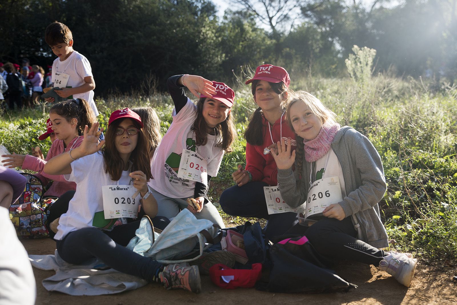
[[[195,132],[195,143],[197,145],[206,145],[208,142],[208,126],[203,117],[203,104],[207,97],[201,97],[197,101],[197,118],[191,127],[191,130]],[[219,123],[215,127],[218,134],[220,134],[221,140],[216,144],[217,147],[222,147],[224,151],[230,153],[232,151],[232,143],[235,139],[235,124],[231,111],[228,113],[227,118]]]

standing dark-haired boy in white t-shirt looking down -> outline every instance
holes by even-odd
[[[94,102],[95,81],[92,76],[90,63],[83,55],[73,49],[73,35],[68,26],[60,22],[53,22],[46,28],[44,40],[58,56],[53,62],[51,86],[62,88],[55,92],[67,98],[85,99],[98,116]],[[71,88],[66,88],[71,87]],[[53,102],[53,98],[47,98]]]

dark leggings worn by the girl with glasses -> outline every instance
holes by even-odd
[[[149,282],[162,269],[162,264],[127,249],[135,236],[140,221],[116,226],[112,231],[88,227],[68,233],[56,241],[57,252],[65,262],[80,264],[90,258],[98,258],[117,271],[136,275]]]

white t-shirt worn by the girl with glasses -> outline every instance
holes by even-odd
[[[119,184],[130,184],[129,171],[122,171]],[[69,202],[68,211],[60,216],[58,231],[54,239],[62,240],[69,232],[86,227],[112,230],[124,223],[120,218],[105,220],[101,187],[117,184],[108,173],[101,152],[79,158],[71,163],[71,174],[64,175],[77,184],[76,192]]]

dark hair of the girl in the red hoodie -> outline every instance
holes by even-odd
[[[252,95],[255,96],[255,87],[259,84],[260,79],[255,79],[251,83]],[[279,83],[270,83],[271,89],[277,94],[283,94],[288,92],[286,85],[283,82]],[[289,95],[288,95],[289,96]],[[287,100],[284,101],[283,105],[287,104]],[[266,132],[263,123],[262,123],[262,109],[257,107],[252,116],[250,117],[248,127],[244,131],[244,138],[246,142],[251,145],[262,145],[264,132]]]

